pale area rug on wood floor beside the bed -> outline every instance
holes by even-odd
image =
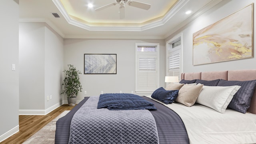
[[[62,112],[22,144],[54,144],[56,121],[65,116],[68,112],[70,112],[70,110]]]

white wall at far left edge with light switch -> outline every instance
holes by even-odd
[[[0,1],[0,142],[19,130],[19,5]],[[12,64],[16,70],[12,71]]]

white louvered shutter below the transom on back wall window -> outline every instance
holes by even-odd
[[[138,58],[138,89],[156,89],[156,56],[139,56]]]

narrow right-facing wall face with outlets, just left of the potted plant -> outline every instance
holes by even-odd
[[[48,113],[62,104],[61,93],[62,71],[64,63],[64,39],[50,26],[45,27],[45,69],[44,69],[44,109]],[[52,99],[47,101],[47,96]]]

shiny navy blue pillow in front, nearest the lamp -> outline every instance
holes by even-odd
[[[151,95],[152,98],[160,100],[165,104],[171,104],[178,97],[179,90],[165,90],[163,87],[158,88]]]

